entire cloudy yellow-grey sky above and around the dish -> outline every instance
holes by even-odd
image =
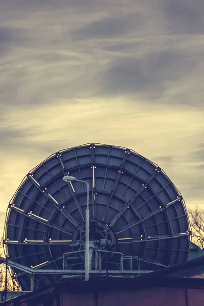
[[[0,232],[23,177],[105,143],[158,164],[204,208],[204,1],[0,4]]]

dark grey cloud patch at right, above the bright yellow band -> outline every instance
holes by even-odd
[[[186,75],[196,69],[197,60],[184,50],[162,50],[140,57],[118,57],[98,75],[104,85],[101,92],[111,95],[142,94],[157,100],[167,88],[175,86],[177,81],[185,80]],[[154,102],[155,99],[152,100]],[[181,100],[180,103],[185,102]]]

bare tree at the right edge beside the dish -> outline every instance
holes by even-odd
[[[204,247],[204,210],[198,206],[193,209],[188,209],[190,219],[192,242],[200,248]]]

